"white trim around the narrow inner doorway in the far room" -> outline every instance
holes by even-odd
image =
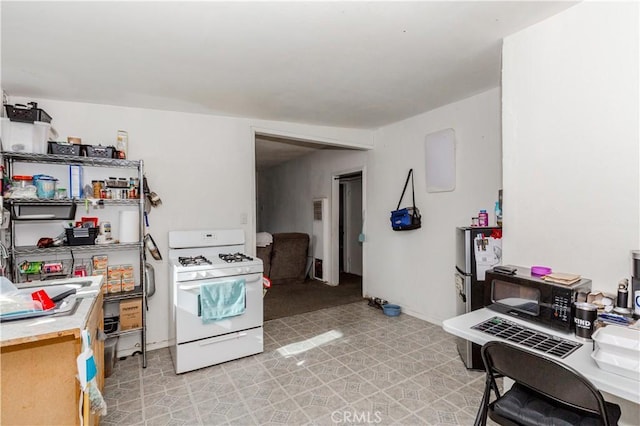
[[[340,247],[339,247],[339,216],[340,216],[340,176],[362,173],[362,234],[366,235],[367,228],[367,168],[366,166],[356,166],[353,168],[340,170],[331,174],[331,245],[329,247],[329,282],[338,285],[340,282]],[[365,239],[366,241],[366,239]],[[363,243],[365,242],[363,241]],[[362,244],[362,291],[364,292],[366,266],[366,244]]]

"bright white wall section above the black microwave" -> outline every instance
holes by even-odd
[[[585,2],[503,48],[504,261],[615,294],[640,247],[639,12]]]

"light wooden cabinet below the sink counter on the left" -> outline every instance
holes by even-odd
[[[104,386],[104,342],[98,339],[98,331],[102,326],[102,294],[99,294],[87,317],[86,329],[91,334],[101,391]],[[82,351],[80,329],[24,340],[0,348],[0,424],[80,424],[81,392],[76,379],[76,358]],[[90,414],[87,395],[83,408],[84,425],[98,424],[99,417]]]

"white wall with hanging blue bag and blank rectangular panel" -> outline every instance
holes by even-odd
[[[456,189],[425,190],[425,136],[456,133]],[[493,211],[501,188],[500,90],[384,127],[368,153],[365,290],[434,323],[455,315],[455,228],[471,224],[480,209]],[[391,230],[407,172],[414,169],[422,228]],[[405,195],[401,207],[411,204]],[[491,214],[490,214],[491,216]]]

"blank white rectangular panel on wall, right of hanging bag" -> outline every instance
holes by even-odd
[[[427,192],[456,189],[456,133],[444,129],[425,137]]]

